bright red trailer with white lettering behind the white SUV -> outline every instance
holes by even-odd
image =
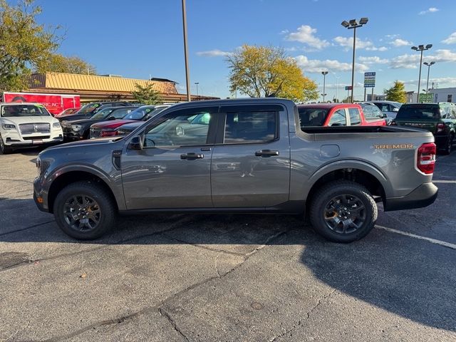
[[[41,93],[3,93],[3,102],[31,102],[40,103],[49,113],[56,115],[67,108],[81,107],[79,95],[41,94]]]

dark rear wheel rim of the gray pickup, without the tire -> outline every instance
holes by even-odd
[[[326,226],[338,234],[356,232],[366,222],[366,207],[356,196],[338,195],[324,207]]]

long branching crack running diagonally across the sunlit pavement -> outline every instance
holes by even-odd
[[[175,227],[175,228],[177,228],[177,227]],[[171,229],[168,229],[168,230],[171,230]],[[192,289],[196,289],[198,286],[202,286],[202,285],[208,283],[209,281],[212,281],[212,280],[215,280],[215,279],[223,279],[228,274],[231,274],[233,271],[239,269],[239,267],[241,267],[243,264],[245,264],[245,262],[250,257],[252,257],[252,255],[256,254],[258,251],[260,251],[261,249],[266,247],[266,245],[269,244],[273,239],[277,239],[277,238],[281,237],[282,235],[286,234],[287,232],[289,232],[289,229],[287,229],[285,231],[282,231],[282,232],[279,232],[279,233],[276,233],[274,235],[271,235],[271,237],[266,239],[266,242],[264,244],[262,244],[261,246],[257,247],[256,249],[254,249],[254,251],[249,252],[247,254],[244,254],[244,260],[242,262],[240,262],[237,266],[234,266],[232,269],[227,271],[226,273],[219,274],[219,271],[217,270],[217,274],[218,274],[217,276],[210,276],[207,279],[203,279],[202,281],[198,281],[195,284],[187,286],[185,289],[182,289],[181,291],[177,291],[175,294],[172,294],[172,295],[168,296],[167,298],[163,299],[162,301],[160,301],[159,305],[147,306],[146,308],[141,309],[140,311],[136,311],[133,314],[126,315],[126,316],[120,316],[120,318],[113,318],[113,319],[110,319],[110,320],[107,320],[107,321],[101,321],[101,322],[93,323],[93,324],[90,324],[90,326],[86,326],[84,328],[78,329],[77,331],[73,331],[72,333],[68,333],[66,335],[61,335],[61,336],[56,336],[56,337],[50,338],[50,339],[46,340],[46,342],[63,341],[65,339],[67,339],[67,338],[78,336],[81,333],[89,331],[90,329],[95,329],[95,328],[98,328],[100,326],[109,326],[109,325],[115,325],[115,324],[118,324],[118,323],[122,323],[124,321],[136,318],[136,317],[138,317],[138,316],[140,316],[142,314],[152,313],[155,310],[158,310],[158,312],[160,313],[161,316],[165,316],[167,318],[167,320],[170,322],[170,324],[172,325],[172,327],[175,329],[175,331],[180,333],[180,335],[182,337],[184,337],[186,341],[190,341],[187,338],[187,336],[185,336],[185,334],[182,333],[182,331],[180,331],[180,329],[177,327],[175,321],[172,319],[170,314],[168,314],[167,311],[165,311],[163,306],[165,304],[167,304],[169,301],[171,301],[172,299],[175,299],[177,296],[185,294],[188,291],[191,291]],[[156,232],[156,233],[153,233],[153,234],[161,234],[161,233],[162,232]],[[165,235],[165,234],[163,234],[163,235]],[[200,246],[197,246],[197,247],[200,247]],[[81,251],[81,252],[83,252],[83,251]],[[213,252],[217,252],[217,251],[213,251]]]

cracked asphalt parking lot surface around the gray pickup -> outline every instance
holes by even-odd
[[[435,204],[352,244],[188,214],[77,242],[33,203],[37,153],[0,155],[0,341],[456,341],[456,152]]]

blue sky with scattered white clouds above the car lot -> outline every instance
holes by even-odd
[[[14,1],[11,1],[14,2]],[[149,75],[180,83],[185,93],[180,0],[37,0],[38,21],[66,31],[60,53],[80,56],[98,73],[131,78]],[[377,73],[375,93],[393,81],[418,90],[419,53],[412,45],[432,43],[423,61],[435,61],[431,81],[456,86],[456,1],[187,0],[192,93],[229,96],[227,53],[242,44],[281,46],[306,76],[339,98],[351,81],[353,30],[343,20],[369,18],[357,30],[356,83]],[[424,67],[424,66],[423,66]],[[427,76],[423,68],[422,80]],[[425,88],[425,83],[420,88]],[[355,96],[361,99],[362,84]]]

